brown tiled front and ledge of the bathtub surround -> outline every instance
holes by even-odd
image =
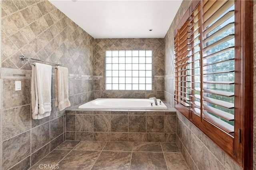
[[[66,110],[66,140],[175,142],[176,110]]]

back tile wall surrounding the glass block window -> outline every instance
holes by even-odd
[[[106,50],[152,50],[152,90],[105,90]],[[164,98],[164,39],[126,38],[95,39],[94,48],[94,98]]]

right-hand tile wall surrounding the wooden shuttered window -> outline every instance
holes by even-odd
[[[164,40],[165,40],[165,89],[166,101],[174,106],[174,29],[190,5],[190,0],[183,0]],[[256,0],[254,0],[254,16],[256,16]],[[254,44],[256,44],[256,18],[254,17]],[[254,45],[254,61],[256,61],[256,45]],[[256,63],[254,62],[254,76]],[[254,100],[256,100],[256,78],[254,78]],[[256,106],[256,105],[255,105]],[[256,170],[256,108],[254,108],[253,164]],[[196,128],[188,119],[177,111],[176,143],[182,151],[191,170],[241,168],[226,155],[214,142]],[[204,160],[204,161],[202,161]],[[204,163],[203,163],[204,162]]]

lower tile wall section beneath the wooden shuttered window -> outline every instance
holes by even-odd
[[[176,143],[191,170],[242,170],[178,111]]]

